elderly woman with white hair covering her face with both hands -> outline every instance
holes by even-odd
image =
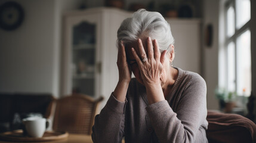
[[[205,81],[172,67],[173,44],[159,13],[138,10],[122,22],[119,82],[95,117],[94,142],[208,142]]]

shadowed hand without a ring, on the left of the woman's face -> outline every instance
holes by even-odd
[[[127,63],[127,57],[125,54],[124,43],[121,42],[118,48],[118,61],[116,62],[118,65],[119,71],[119,82],[127,82],[131,81],[131,68]]]

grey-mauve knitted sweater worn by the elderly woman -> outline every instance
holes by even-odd
[[[127,100],[113,94],[92,127],[94,142],[208,142],[206,84],[199,74],[178,69],[165,101],[149,105],[146,88],[132,79]]]

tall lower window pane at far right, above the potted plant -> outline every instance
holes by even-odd
[[[237,92],[238,95],[251,94],[251,32],[246,30],[237,39]]]

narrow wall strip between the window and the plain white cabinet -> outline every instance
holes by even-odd
[[[207,85],[207,108],[218,109],[218,101],[215,98],[214,89],[218,85],[218,13],[219,1],[205,0],[203,7],[203,59],[202,73]],[[206,46],[204,30],[207,24],[213,26],[212,46]]]

